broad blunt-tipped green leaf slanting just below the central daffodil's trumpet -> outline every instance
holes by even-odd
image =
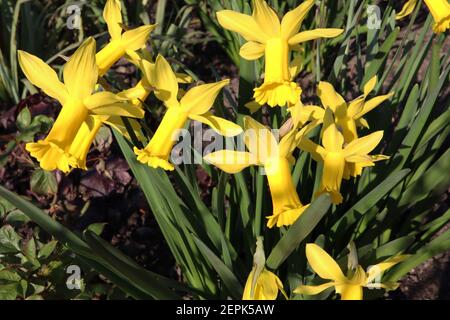
[[[330,208],[331,201],[328,194],[317,198],[298,220],[288,229],[286,234],[278,241],[267,258],[266,265],[276,270],[284,260],[299,246],[311,233]]]

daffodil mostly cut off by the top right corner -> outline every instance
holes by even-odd
[[[434,18],[433,31],[435,33],[445,32],[450,28],[450,3],[448,0],[424,0],[431,15]],[[397,14],[397,20],[409,16],[417,6],[419,0],[408,0],[403,9]]]

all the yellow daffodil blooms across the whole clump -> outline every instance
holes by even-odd
[[[446,0],[425,0],[436,20],[434,30],[449,28],[450,5]],[[365,168],[375,166],[387,155],[374,153],[382,142],[384,132],[370,130],[364,116],[389,100],[393,93],[373,96],[377,77],[363,84],[363,92],[347,102],[332,84],[321,81],[317,85],[319,105],[304,105],[302,88],[295,81],[301,61],[292,58],[301,44],[319,38],[338,37],[344,30],[323,28],[301,30],[302,22],[314,6],[314,0],[305,0],[281,19],[264,0],[253,1],[252,15],[231,10],[217,12],[220,25],[234,31],[245,40],[240,55],[247,60],[264,58],[263,83],[254,89],[252,111],[264,106],[286,108],[289,119],[283,130],[275,132],[267,122],[251,116],[243,117],[243,127],[216,116],[213,106],[229,80],[191,85],[192,79],[176,73],[161,55],[154,61],[148,59],[145,45],[154,25],[129,30],[123,26],[121,5],[118,0],[108,0],[104,8],[110,41],[97,48],[93,38],[88,38],[69,57],[61,81],[45,62],[29,53],[19,51],[19,63],[28,80],[61,104],[61,111],[48,135],[28,143],[26,149],[45,170],[87,169],[86,157],[103,125],[109,125],[129,138],[130,132],[141,137],[139,119],[146,116],[143,103],[153,94],[165,107],[164,116],[155,133],[144,147],[135,147],[136,159],[153,169],[172,171],[175,164],[170,156],[180,129],[190,121],[198,121],[224,137],[241,136],[245,150],[218,150],[204,156],[204,160],[229,174],[248,167],[257,167],[266,176],[271,195],[272,210],[267,212],[267,228],[288,228],[309,206],[301,199],[292,175],[292,165],[298,152],[307,152],[321,164],[319,194],[327,193],[332,202],[345,201],[341,193],[344,180],[356,178]],[[398,18],[412,12],[417,1],[410,0]],[[125,31],[127,30],[127,31]],[[99,50],[98,50],[99,49]],[[141,51],[141,52],[140,52]],[[129,59],[142,75],[132,88],[110,92],[99,81],[121,58]],[[104,80],[104,79],[103,79]],[[371,96],[372,95],[372,96]],[[124,123],[127,118],[127,125]],[[313,129],[320,139],[310,137]],[[144,142],[142,137],[141,142]],[[301,186],[308,188],[310,186]],[[353,250],[354,251],[354,250]],[[351,254],[354,254],[351,253]],[[315,295],[334,288],[342,299],[362,299],[363,288],[370,287],[382,272],[401,262],[404,256],[392,257],[372,269],[364,270],[353,264],[344,274],[337,262],[316,244],[306,245],[306,258],[312,270],[327,282],[317,286],[300,285],[294,293]],[[392,289],[395,284],[379,283],[380,288]],[[266,268],[263,241],[258,237],[254,263],[243,292],[243,299],[276,299],[281,292],[286,298],[283,284],[275,270]]]

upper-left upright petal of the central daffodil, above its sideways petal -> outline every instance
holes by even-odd
[[[244,117],[244,142],[247,149],[259,162],[265,163],[267,159],[278,156],[278,141],[268,130],[252,117]]]

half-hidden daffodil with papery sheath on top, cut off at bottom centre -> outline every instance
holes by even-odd
[[[276,300],[278,291],[281,291],[287,299],[280,278],[266,269],[263,238],[258,237],[253,268],[245,283],[242,300]]]

